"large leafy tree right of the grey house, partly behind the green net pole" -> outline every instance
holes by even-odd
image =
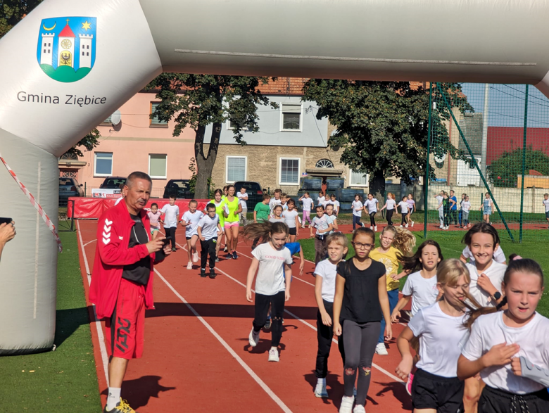
[[[438,84],[434,94],[443,95],[450,106],[472,111],[460,84]],[[429,93],[409,82],[362,82],[311,79],[303,87],[303,100],[316,101],[317,118],[329,117],[337,132],[330,136],[331,148],[343,148],[341,162],[370,174],[370,192],[385,195],[385,178],[399,177],[406,184],[425,174]],[[437,131],[436,154],[458,155],[450,144],[443,122],[450,119],[446,106],[433,113]],[[431,171],[431,177],[434,174]]]

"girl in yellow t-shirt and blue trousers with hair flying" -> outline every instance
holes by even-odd
[[[385,227],[379,234],[381,246],[375,248],[370,253],[370,258],[381,262],[386,269],[386,291],[389,296],[389,314],[393,312],[398,303],[398,286],[400,280],[407,273],[398,274],[398,260],[401,255],[412,255],[412,248],[415,246],[415,236],[408,229],[397,229],[395,227]],[[397,247],[395,248],[393,244]],[[384,331],[385,318],[381,319],[381,331]],[[388,355],[383,339],[383,333],[379,333],[376,353],[379,355]]]

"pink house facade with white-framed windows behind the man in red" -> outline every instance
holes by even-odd
[[[185,128],[172,136],[173,122],[151,120],[155,93],[140,92],[124,103],[121,121],[110,118],[97,127],[99,146],[78,159],[59,160],[61,176],[75,177],[87,189],[98,188],[106,177],[126,177],[133,171],[149,173],[153,178],[152,196],[162,196],[170,179],[189,179],[189,163],[194,157],[194,131]],[[87,190],[89,195],[91,191]]]

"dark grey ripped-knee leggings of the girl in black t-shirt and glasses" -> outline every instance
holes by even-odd
[[[357,371],[358,383],[356,386],[356,404],[364,406],[370,376],[372,358],[376,350],[377,338],[381,329],[381,322],[355,323],[351,320],[343,321],[343,347],[345,348],[345,368],[343,369],[343,385],[345,395],[353,396]]]

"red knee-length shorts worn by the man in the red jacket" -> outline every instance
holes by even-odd
[[[145,286],[123,279],[113,315],[105,322],[109,356],[139,359],[143,355]]]

